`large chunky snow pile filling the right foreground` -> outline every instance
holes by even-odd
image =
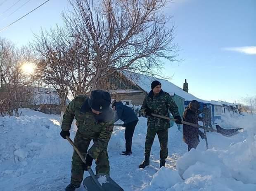
[[[247,115],[237,117],[232,121],[226,117],[226,120],[223,121],[222,126],[231,124],[244,127],[246,133],[242,134],[244,136],[242,141],[230,144],[225,150],[220,148],[207,151],[192,149],[178,159],[176,171],[159,170],[153,176],[149,190],[165,188],[162,190],[255,191],[256,119]],[[177,175],[180,175],[184,181],[177,179]],[[173,183],[173,180],[177,182]],[[166,184],[167,181],[169,184]]]

